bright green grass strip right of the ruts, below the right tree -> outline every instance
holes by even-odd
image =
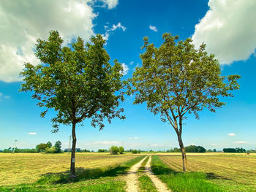
[[[202,172],[175,172],[157,156],[152,156],[151,169],[173,192],[220,192],[219,185],[207,180]]]

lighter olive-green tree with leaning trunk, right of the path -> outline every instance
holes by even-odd
[[[144,37],[145,53],[140,55],[142,66],[137,67],[130,79],[129,93],[135,94],[134,104],[146,102],[147,109],[160,114],[176,131],[181,148],[183,170],[187,170],[187,157],[181,139],[187,113],[198,112],[205,107],[211,112],[225,103],[220,96],[233,96],[238,89],[238,75],[221,76],[219,62],[206,53],[206,45],[195,49],[192,39],[178,41],[178,36],[163,34],[164,42],[157,48]]]

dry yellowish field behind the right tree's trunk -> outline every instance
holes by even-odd
[[[182,170],[181,155],[159,155],[176,172]],[[256,155],[251,153],[188,153],[190,172],[203,172],[207,180],[225,191],[256,191]]]

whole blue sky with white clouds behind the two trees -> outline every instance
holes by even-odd
[[[124,79],[141,66],[143,37],[159,47],[162,34],[170,32],[181,40],[192,38],[195,47],[206,43],[222,66],[222,75],[239,74],[240,89],[216,113],[203,110],[197,120],[189,115],[183,131],[184,145],[206,149],[256,148],[256,1],[255,0],[9,0],[0,1],[0,150],[15,145],[33,148],[48,141],[69,145],[71,128],[61,126],[52,134],[50,111],[42,111],[31,93],[20,93],[19,72],[24,62],[39,64],[34,56],[37,38],[46,39],[58,30],[68,45],[80,36],[86,41],[102,34],[110,64],[116,58],[124,67]],[[125,150],[167,150],[178,147],[173,128],[153,115],[146,104],[133,105],[126,96],[121,104],[126,120],[114,119],[105,128],[85,120],[77,127],[77,147],[97,150],[111,145]]]

